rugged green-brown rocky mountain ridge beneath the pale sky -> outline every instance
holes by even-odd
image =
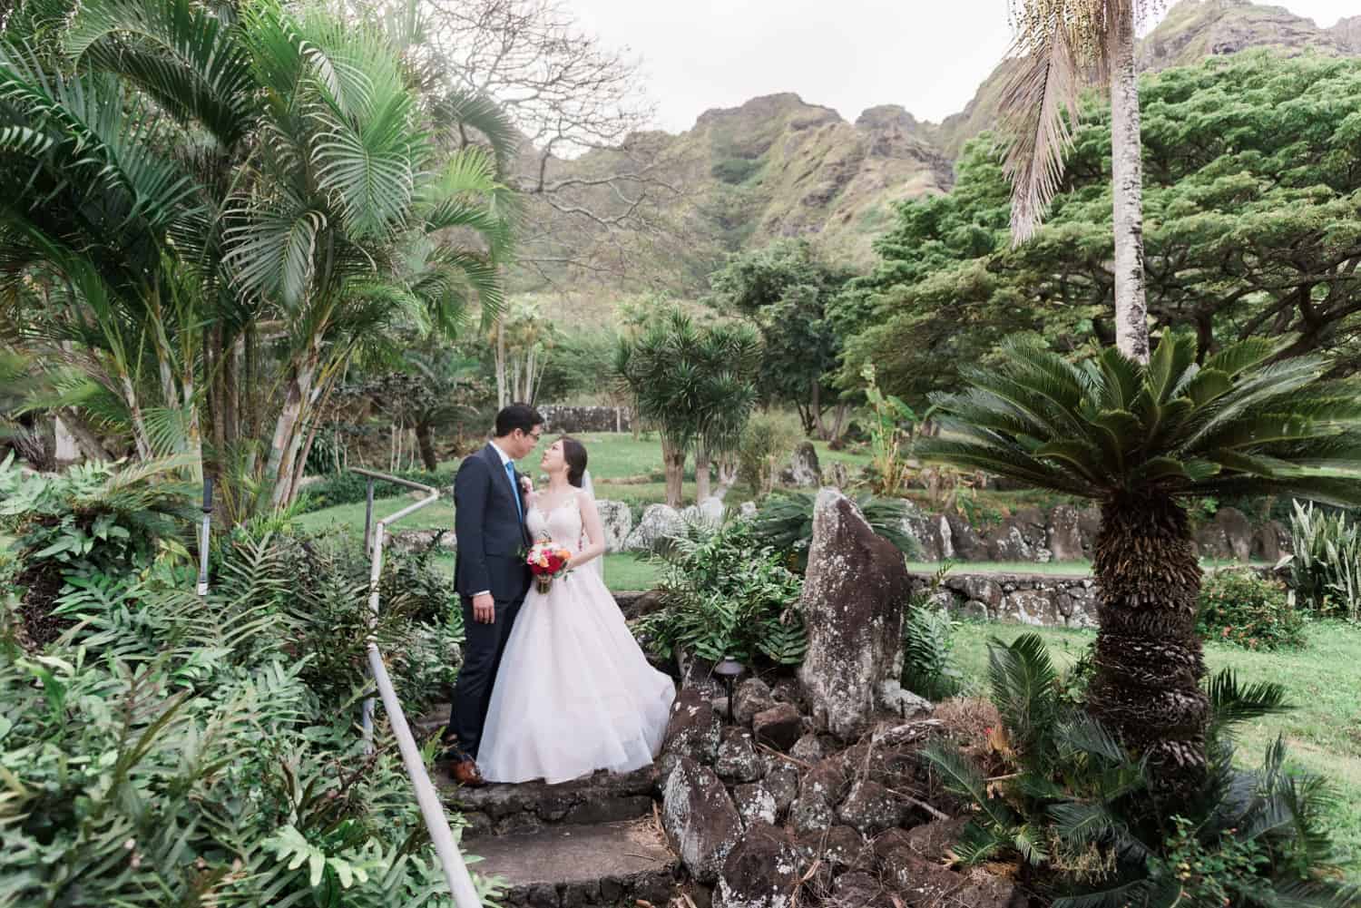
[[[1282,7],[1183,0],[1141,42],[1139,65],[1158,71],[1259,46],[1361,54],[1361,16],[1320,29]],[[655,283],[697,293],[725,253],[777,237],[815,237],[842,263],[868,264],[893,203],[950,189],[965,142],[996,124],[1011,65],[1003,61],[965,109],[942,124],[921,123],[898,105],[870,108],[847,123],[796,94],[774,94],[709,110],[680,135],[636,136],[656,173],[682,191],[661,214],[685,237],[634,250],[640,271]],[[559,178],[599,174],[614,155],[554,162],[551,172]],[[604,192],[599,201],[608,204]]]

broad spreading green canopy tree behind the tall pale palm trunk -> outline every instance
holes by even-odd
[[[1282,357],[1361,368],[1361,61],[1215,57],[1145,78],[1141,98],[1151,331],[1195,331],[1202,358],[1290,334]],[[851,335],[840,381],[874,362],[920,400],[1010,335],[1079,355],[1113,343],[1109,117],[1089,102],[1048,225],[1019,248],[988,136],[949,195],[900,206],[881,264],[833,306]]]

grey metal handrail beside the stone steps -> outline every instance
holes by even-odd
[[[397,749],[401,751],[401,764],[406,766],[407,776],[411,779],[411,787],[415,788],[416,803],[421,805],[421,815],[425,818],[426,829],[430,832],[430,843],[434,845],[434,852],[440,856],[440,864],[444,867],[444,878],[445,882],[449,883],[449,894],[453,896],[453,904],[457,905],[457,908],[479,908],[482,901],[478,898],[478,889],[472,885],[472,877],[468,875],[467,864],[463,863],[463,855],[459,854],[459,845],[453,840],[453,830],[449,829],[449,818],[444,815],[444,803],[441,803],[440,795],[436,792],[434,784],[430,781],[430,775],[425,769],[425,760],[421,758],[421,750],[416,747],[416,741],[411,735],[411,727],[407,724],[406,713],[401,712],[401,704],[397,701],[397,692],[393,690],[392,679],[388,678],[388,668],[382,664],[382,653],[378,651],[378,638],[376,634],[378,621],[378,577],[382,574],[382,539],[388,524],[393,524],[407,515],[415,513],[427,504],[438,500],[440,493],[431,486],[423,486],[419,482],[410,482],[407,479],[399,479],[381,472],[373,472],[372,470],[351,467],[350,472],[357,472],[361,476],[369,478],[366,496],[369,505],[366,509],[367,513],[363,519],[363,543],[370,555],[369,637],[366,641],[369,671],[373,672],[373,682],[378,687],[378,696],[382,697],[382,708],[388,711],[388,721],[392,724],[392,735],[397,739]],[[384,482],[393,482],[399,486],[406,486],[418,491],[425,491],[426,497],[415,504],[407,505],[395,515],[389,515],[378,520],[378,523],[374,524],[373,483],[378,479]],[[372,750],[373,697],[366,697],[363,701],[363,741]]]

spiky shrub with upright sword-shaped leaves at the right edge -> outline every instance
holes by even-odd
[[[1361,621],[1361,521],[1294,502],[1290,585],[1300,604]]]

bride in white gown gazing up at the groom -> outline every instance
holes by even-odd
[[[569,574],[531,587],[497,671],[478,765],[487,781],[568,781],[596,769],[632,772],[661,747],[675,698],[648,664],[604,585],[604,532],[583,490],[587,452],[559,438],[543,455],[548,486],[529,494],[535,542],[569,549]]]

